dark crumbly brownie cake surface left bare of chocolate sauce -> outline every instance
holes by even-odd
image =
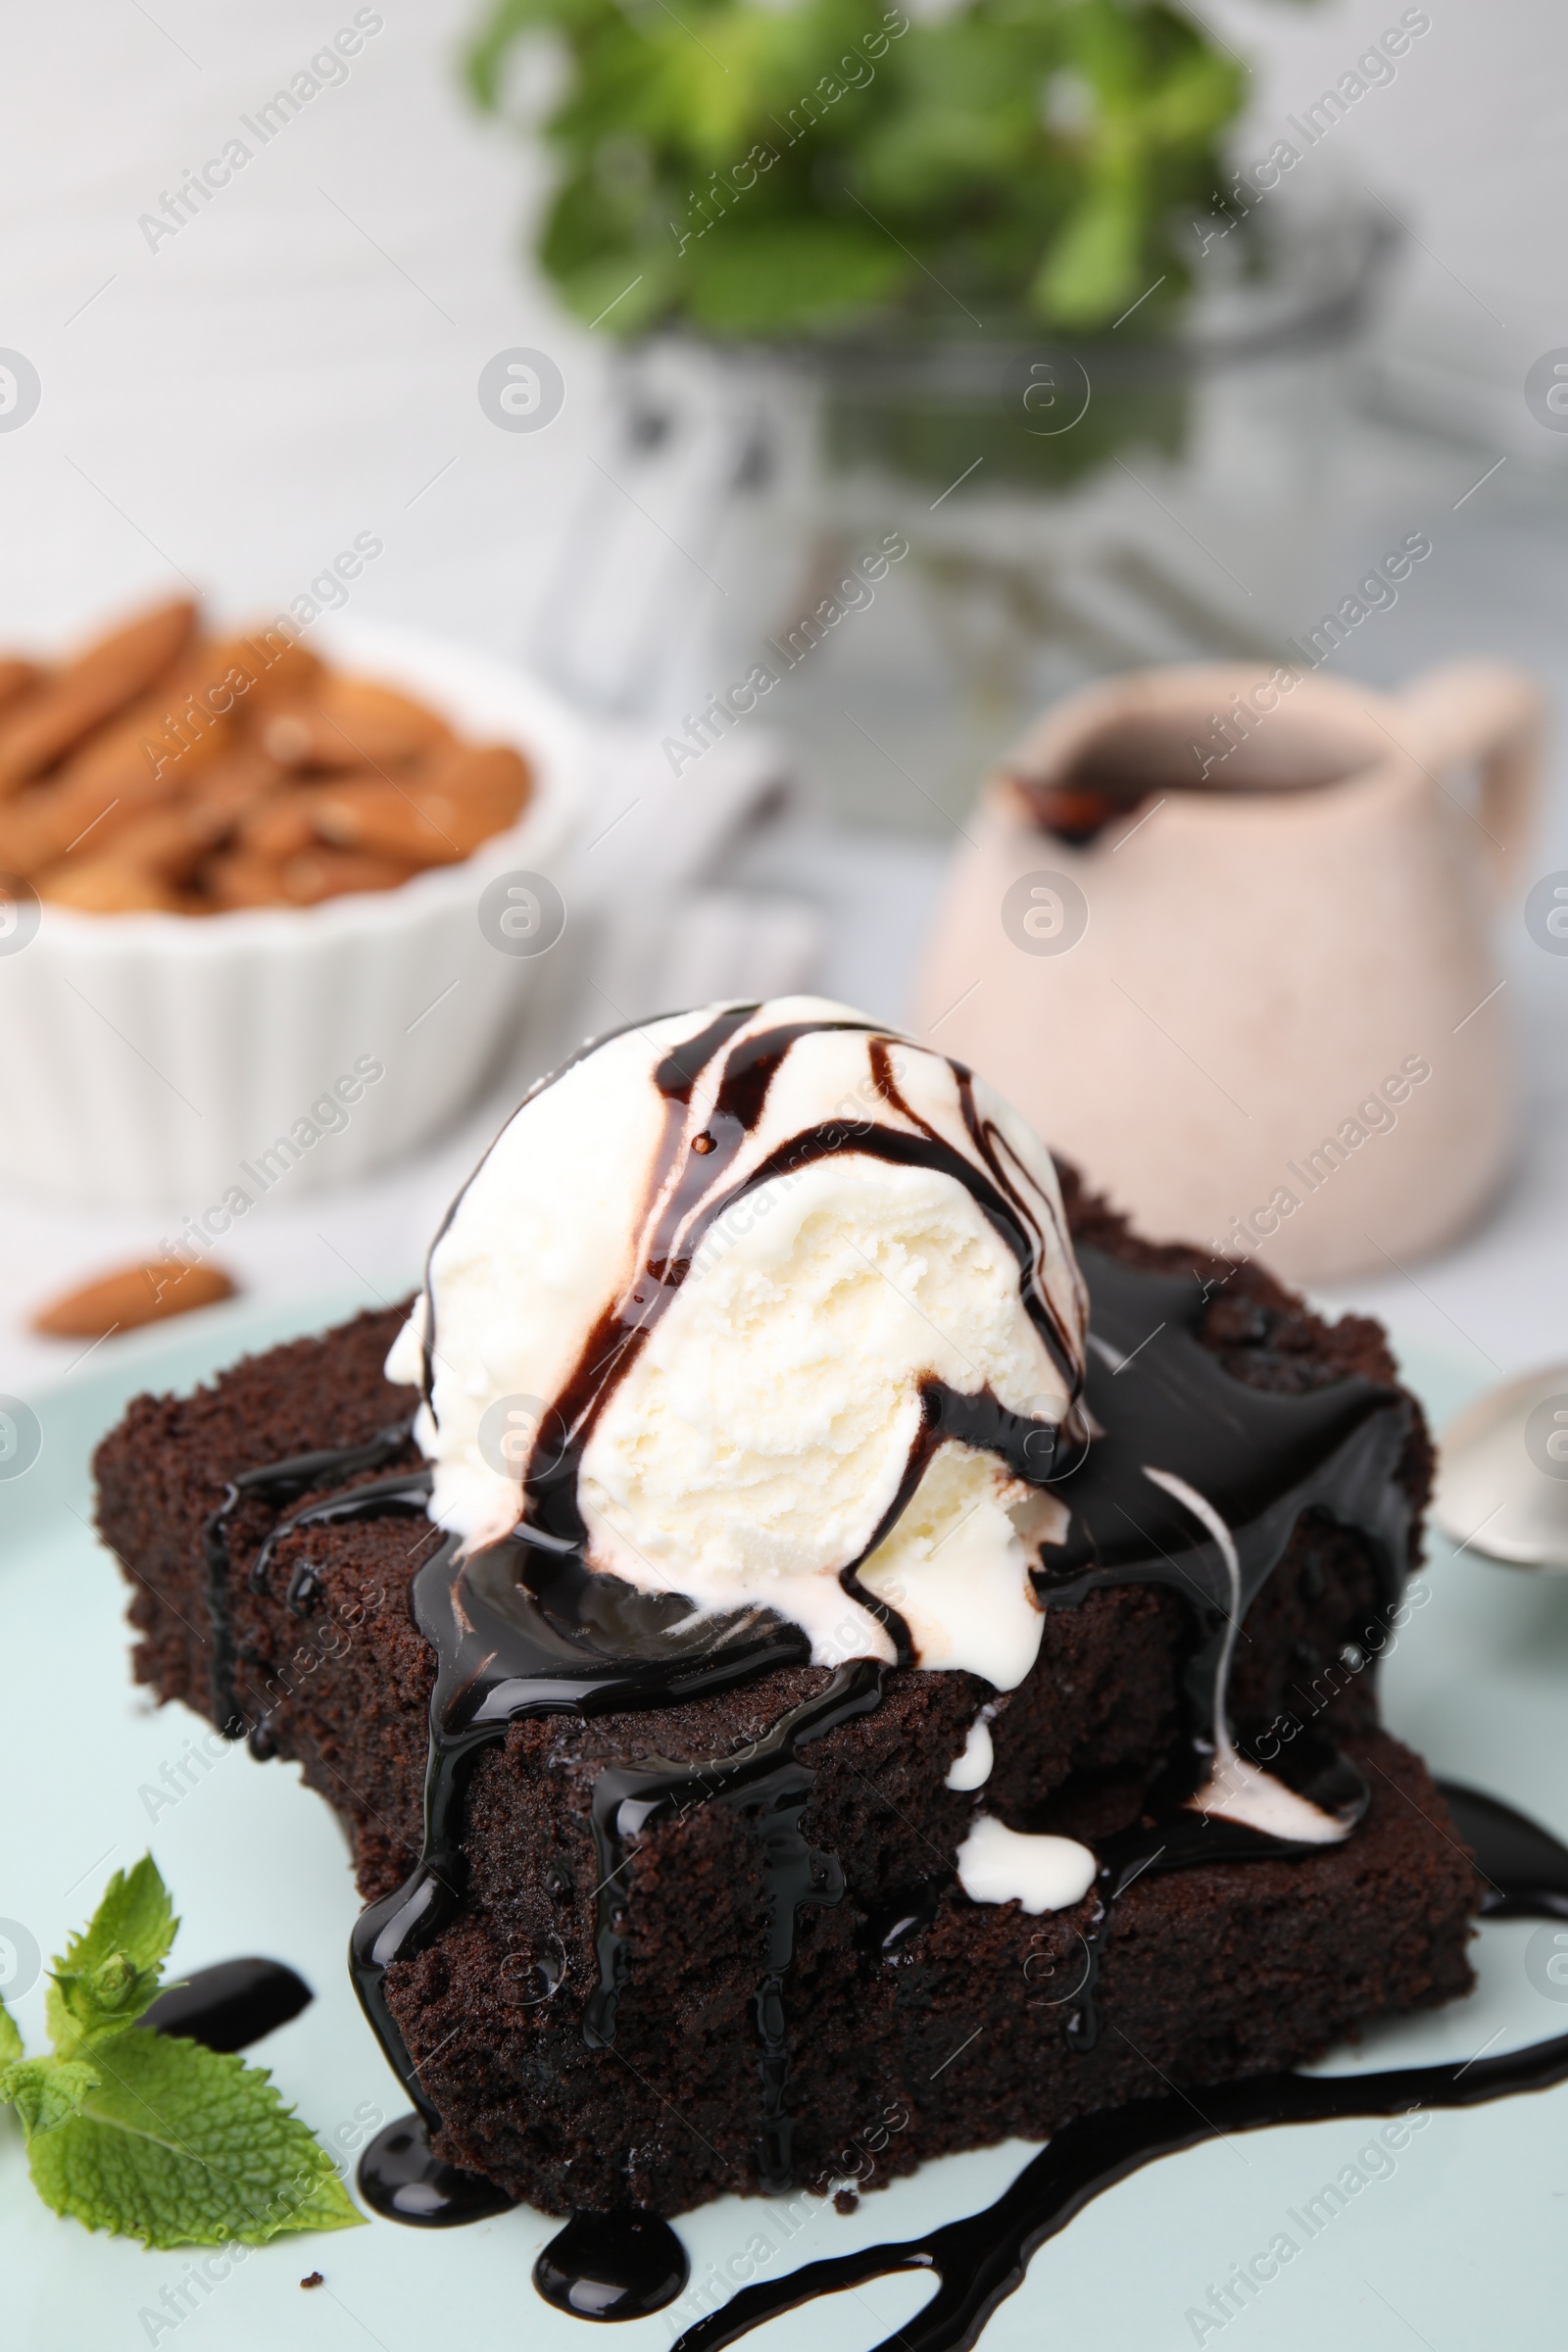
[[[1079,1242],[1215,1279],[1204,1338],[1237,1378],[1293,1390],[1347,1371],[1394,1381],[1378,1324],[1326,1327],[1260,1268],[1145,1244],[1072,1171],[1065,1192]],[[244,1359],[195,1397],[141,1397],[99,1449],[101,1526],[134,1588],[136,1679],[160,1698],[212,1712],[200,1524],[223,1482],[353,1444],[407,1411],[414,1397],[381,1378],[400,1315]],[[1429,1458],[1418,1425],[1401,1465],[1418,1505]],[[252,1597],[244,1571],[270,1524],[244,1505],[233,1529],[240,1698],[346,1818],[360,1893],[374,1900],[421,1842],[433,1653],[407,1588],[435,1531],[407,1515],[310,1529],[280,1545],[268,1590]],[[322,1597],[294,1616],[284,1590],[306,1557]],[[879,2136],[889,2112],[907,2126],[886,2140],[877,2178],[1009,2133],[1041,2138],[1171,2084],[1295,2065],[1375,2016],[1465,1992],[1476,1882],[1422,1764],[1378,1729],[1375,1670],[1354,1665],[1373,1606],[1361,1541],[1302,1519],[1248,1613],[1232,1708],[1241,1731],[1291,1712],[1338,1738],[1371,1780],[1371,1811],[1347,1844],[1302,1860],[1143,1877],[1117,1905],[1086,2053],[1065,2042],[1063,1997],[1081,1978],[1093,1898],[1027,1917],[1016,1903],[969,1903],[952,1879],[973,1799],[943,1783],[987,1684],[891,1672],[872,1715],[813,1743],[804,1835],[839,1856],[846,1898],[799,1915],[785,1987],[799,2178],[837,2176],[839,2152]],[[1159,1588],[1048,1613],[1034,1672],[997,1703],[985,1809],[1018,1830],[1084,1837],[1135,1820],[1180,1736],[1185,1644],[1185,1609]],[[437,2154],[557,2213],[628,2201],[679,2213],[757,2190],[757,1835],[743,1811],[705,1804],[632,1849],[630,1983],[614,2049],[590,2051],[590,1797],[609,1762],[729,1755],[825,1679],[778,1670],[679,1710],[522,1722],[480,1752],[463,1910],[388,1973],[444,2119]],[[938,1896],[931,1926],[884,1957],[882,1933],[922,1896]]]

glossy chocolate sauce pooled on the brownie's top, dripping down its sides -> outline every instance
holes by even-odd
[[[1368,1381],[1340,1381],[1307,1397],[1244,1388],[1197,1338],[1204,1296],[1194,1282],[1135,1272],[1091,1249],[1081,1251],[1081,1265],[1091,1284],[1098,1341],[1091,1352],[1088,1406],[1107,1435],[1056,1484],[1072,1519],[1065,1543],[1051,1545],[1051,1566],[1039,1571],[1039,1592],[1046,1606],[1077,1606],[1084,1592],[1105,1583],[1161,1581],[1187,1597],[1197,1628],[1187,1670],[1190,1750],[1152,1799],[1154,1828],[1138,1825],[1100,1844],[1098,1903],[1086,1938],[1088,1971],[1067,2011],[1070,2039],[1086,2049],[1095,2032],[1093,1980],[1114,1905],[1140,1872],[1312,1851],[1244,1823],[1192,1811],[1187,1799],[1213,1766],[1225,1731],[1222,1670],[1232,1625],[1276,1564],[1302,1510],[1335,1508],[1359,1524],[1375,1543],[1389,1595],[1399,1590],[1408,1508],[1392,1486],[1392,1470],[1408,1435],[1410,1409],[1396,1390]],[[1034,1437],[1032,1423],[1006,1416],[987,1399],[952,1399],[938,1383],[926,1399],[919,1463],[945,1435],[976,1442],[987,1416],[1013,1423],[1011,1430],[999,1430],[997,1442],[1020,1465],[1032,1465],[1025,1451]],[[364,1454],[367,1449],[355,1449],[348,1468],[371,1468]],[[1145,1477],[1150,1456],[1180,1461],[1201,1479],[1201,1491],[1234,1529],[1237,1571],[1227,1566],[1208,1526],[1178,1496]],[[322,1484],[327,1475],[327,1461],[310,1456],[306,1465],[282,1465],[275,1486],[287,1484],[299,1494],[308,1484]],[[266,1475],[252,1477],[259,1486]],[[284,1526],[388,1505],[409,1508],[416,1489],[418,1475],[397,1475],[308,1505],[282,1522],[261,1562],[270,1557]],[[428,2131],[437,2129],[440,2114],[393,2020],[383,1980],[386,1969],[423,1950],[461,1903],[461,1804],[473,1757],[527,1715],[592,1717],[679,1705],[752,1682],[778,1665],[804,1665],[809,1642],[799,1628],[766,1611],[693,1623],[682,1599],[644,1595],[590,1571],[569,1538],[531,1522],[468,1557],[456,1538],[447,1538],[416,1573],[411,1606],[440,1661],[430,1703],[423,1851],[404,1886],[357,1922],[353,1976],[423,2122],[423,2133],[409,2143],[418,2152],[400,2159],[402,2171],[407,2164],[425,2169],[414,2204],[423,2199],[428,2218],[447,2223],[454,2206],[494,2211],[494,2192],[473,2183],[473,2176],[442,2169],[428,2152]],[[614,2042],[632,1966],[621,1903],[630,1844],[658,1820],[705,1802],[733,1804],[757,1823],[773,1915],[755,1994],[762,2089],[757,2171],[766,2187],[783,2187],[790,2166],[783,1994],[797,1915],[811,1903],[835,1903],[842,1896],[837,1860],[813,1853],[802,1835],[813,1773],[799,1750],[832,1724],[877,1705],[879,1691],[882,1668],[858,1661],[741,1757],[698,1764],[642,1757],[609,1766],[595,1785],[602,1891],[599,1983],[583,2018],[590,2046]],[[1293,1757],[1305,1752],[1302,1740]],[[1342,1820],[1354,1818],[1363,1804],[1359,1776],[1333,1750],[1316,1750],[1312,1773],[1298,1769],[1298,1783]],[[371,2201],[411,2218],[411,2192],[400,2166],[393,2166],[397,2180],[378,2192],[371,2183],[376,2152],[371,2159],[364,2176]],[[437,2176],[440,2185],[433,2187]]]

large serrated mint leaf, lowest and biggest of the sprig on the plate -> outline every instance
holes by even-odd
[[[263,2067],[122,2032],[94,2046],[92,2072],[78,2110],[28,2140],[33,2185],[56,2213],[146,2246],[261,2246],[364,2218]]]

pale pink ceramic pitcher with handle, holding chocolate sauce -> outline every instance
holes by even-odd
[[[1542,731],[1490,663],[1401,696],[1284,666],[1091,687],[985,788],[917,1035],[1145,1232],[1291,1279],[1389,1272],[1509,1160],[1490,929]]]

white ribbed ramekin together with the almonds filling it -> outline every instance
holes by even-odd
[[[169,602],[0,659],[0,1183],[216,1240],[247,1169],[320,1190],[440,1134],[543,962],[480,898],[559,863],[588,755],[536,680],[388,623]]]

